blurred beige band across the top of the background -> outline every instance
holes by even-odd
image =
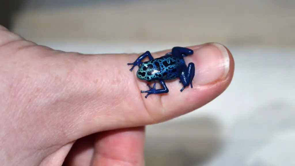
[[[295,1],[185,0],[30,9],[14,31],[29,39],[295,45]]]

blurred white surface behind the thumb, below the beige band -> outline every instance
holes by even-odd
[[[195,44],[103,44],[68,41],[37,43],[81,53],[140,53]],[[206,164],[208,166],[295,165],[295,49],[228,48],[235,59],[235,74],[228,89],[204,107],[173,121],[205,116],[218,121],[224,133],[223,147]],[[187,126],[183,129],[178,126],[179,130],[173,131],[169,130],[169,126],[159,129],[152,125],[148,126],[147,138],[170,136],[185,139],[194,132],[194,127],[191,125],[189,130]],[[202,135],[206,131],[198,132],[197,134]]]

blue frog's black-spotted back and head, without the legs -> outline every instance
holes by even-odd
[[[153,80],[172,80],[179,77],[185,62],[173,56],[162,56],[151,61],[143,62],[137,71],[139,79]]]

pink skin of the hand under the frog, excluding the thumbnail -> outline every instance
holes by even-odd
[[[208,43],[188,48],[220,54]],[[234,73],[227,52],[226,77],[204,85],[193,81],[194,88],[183,92],[178,79],[168,81],[168,94],[145,99],[140,90],[148,90],[147,82],[137,79],[137,67],[130,72],[127,66],[140,54],[57,51],[0,26],[0,165],[142,166],[144,126],[189,113],[219,96]]]

